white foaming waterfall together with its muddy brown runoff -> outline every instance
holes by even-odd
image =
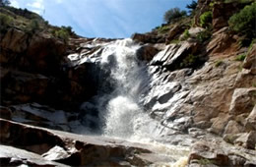
[[[150,81],[146,64],[137,59],[139,48],[132,39],[123,39],[105,45],[102,50],[100,66],[110,71],[105,82],[114,86],[110,92],[101,93],[96,99],[101,135],[147,143],[156,152],[178,160],[187,155],[187,148],[155,141],[153,131],[159,123],[150,118],[139,104],[141,87]]]

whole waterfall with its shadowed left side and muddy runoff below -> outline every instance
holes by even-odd
[[[148,143],[158,154],[176,160],[186,156],[186,148],[156,141],[164,127],[141,105],[151,83],[148,66],[137,58],[141,46],[123,39],[101,47],[90,56],[99,66],[99,82],[97,95],[82,105],[87,113],[83,117],[88,129],[84,134]]]

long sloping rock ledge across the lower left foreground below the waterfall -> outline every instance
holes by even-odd
[[[149,145],[146,146],[147,144],[104,137],[80,136],[3,119],[0,119],[0,125],[2,144],[16,145],[21,149],[32,151],[35,158],[41,155],[39,156],[41,163],[57,161],[60,163],[59,166],[62,164],[71,166],[149,166],[153,163],[174,161],[169,156],[163,157],[158,152],[154,152],[158,149],[155,150],[153,147],[147,149],[149,147]],[[11,158],[19,155],[17,151],[13,151]],[[7,156],[3,158],[5,157]],[[36,162],[36,159],[34,160]],[[9,158],[6,165],[12,164]]]

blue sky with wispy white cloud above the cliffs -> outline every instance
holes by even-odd
[[[170,8],[192,0],[10,0],[12,6],[27,8],[51,25],[71,26],[86,37],[130,37],[163,23]]]

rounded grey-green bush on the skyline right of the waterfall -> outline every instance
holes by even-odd
[[[179,8],[172,8],[165,12],[163,19],[166,23],[170,23],[186,15],[187,15],[186,11],[180,11]]]

